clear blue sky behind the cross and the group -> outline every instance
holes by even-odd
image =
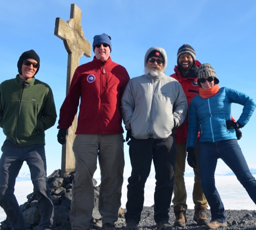
[[[254,0],[44,0],[1,1],[0,28],[0,82],[14,78],[17,61],[26,50],[34,49],[40,56],[40,70],[36,78],[49,84],[53,90],[57,114],[66,95],[68,54],[61,39],[54,35],[55,19],[70,18],[71,4],[82,10],[81,25],[84,36],[91,43],[96,34],[112,37],[113,61],[123,65],[133,78],[143,73],[146,50],[160,46],[166,50],[166,74],[174,71],[177,50],[190,44],[196,50],[197,60],[210,63],[226,86],[247,93],[256,99],[256,2]],[[83,56],[80,64],[92,57]],[[242,107],[232,107],[238,119]],[[57,118],[58,120],[58,118]],[[239,144],[250,168],[256,168],[254,150],[256,116],[243,129]],[[46,131],[48,174],[61,166],[61,145],[57,142],[57,122]],[[0,131],[0,145],[5,140]],[[125,172],[131,166],[125,144]],[[188,166],[189,172],[191,168]],[[222,162],[217,170],[230,171]],[[24,166],[21,172],[28,172]],[[98,171],[96,172],[96,175]]]

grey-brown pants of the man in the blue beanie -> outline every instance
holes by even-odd
[[[70,222],[72,229],[87,229],[92,220],[94,187],[92,178],[99,159],[101,184],[99,212],[102,224],[114,224],[121,206],[124,153],[122,134],[77,135],[73,151],[75,178],[72,185]]]

